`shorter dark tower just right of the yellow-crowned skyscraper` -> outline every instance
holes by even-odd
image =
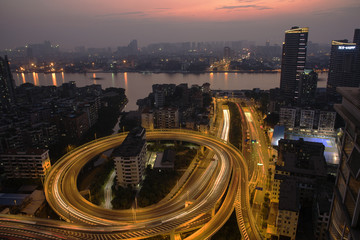
[[[312,69],[305,69],[304,72],[300,74],[299,105],[309,106],[315,103],[317,80],[318,75]]]

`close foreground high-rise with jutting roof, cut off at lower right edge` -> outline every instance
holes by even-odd
[[[329,235],[360,239],[360,88],[337,89],[343,97],[334,108],[345,121],[344,135],[331,206]]]

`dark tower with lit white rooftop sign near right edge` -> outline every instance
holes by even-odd
[[[332,41],[327,93],[336,95],[336,87],[359,87],[360,29],[355,29],[354,42]]]

